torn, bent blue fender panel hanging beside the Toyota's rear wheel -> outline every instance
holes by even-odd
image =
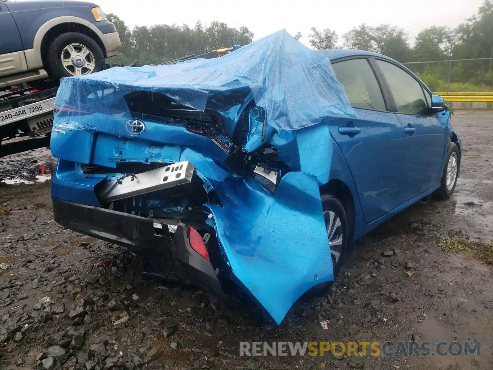
[[[251,178],[218,184],[207,205],[232,274],[280,324],[292,304],[334,273],[317,178],[286,174],[275,196]]]

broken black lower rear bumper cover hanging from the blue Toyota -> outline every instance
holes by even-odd
[[[209,260],[195,252],[188,228],[178,223],[173,240],[166,225],[156,233],[154,220],[52,198],[55,221],[71,230],[127,247],[141,256],[151,274],[171,271],[190,283],[224,297]]]

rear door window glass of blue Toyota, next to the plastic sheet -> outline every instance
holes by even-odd
[[[384,97],[367,59],[351,59],[332,64],[354,108],[387,111]]]

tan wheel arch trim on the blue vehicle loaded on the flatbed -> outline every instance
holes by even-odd
[[[66,33],[79,32],[94,39],[101,47],[106,57],[106,47],[103,43],[103,33],[91,22],[74,16],[63,16],[50,19],[45,22],[36,32],[33,49],[26,50],[28,67],[41,68],[46,65],[46,45],[53,38]]]

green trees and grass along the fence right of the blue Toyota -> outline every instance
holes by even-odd
[[[492,58],[493,0],[485,0],[476,16],[454,30],[438,26],[424,29],[412,49],[403,30],[385,24],[361,24],[343,39],[344,47],[379,52],[403,63]],[[493,59],[407,67],[434,91],[491,91],[493,86]]]

